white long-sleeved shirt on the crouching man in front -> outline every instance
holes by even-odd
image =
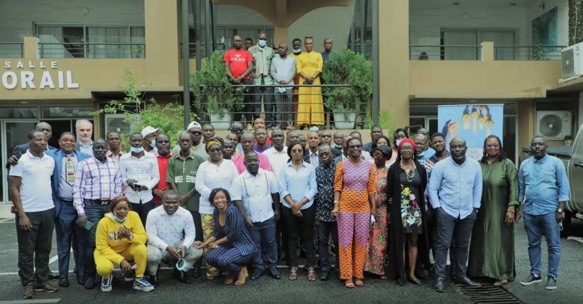
[[[159,206],[147,214],[147,240],[161,250],[168,246],[186,246],[188,249],[194,243],[196,228],[192,214],[178,207],[173,215],[168,215],[164,206]]]

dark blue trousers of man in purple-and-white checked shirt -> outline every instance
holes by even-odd
[[[91,229],[86,230],[83,227],[76,225],[76,230],[79,232],[76,234],[79,238],[77,239],[78,247],[78,265],[77,265],[77,275],[86,274],[87,277],[95,276],[95,260],[93,258],[93,251],[95,251],[95,233],[97,231],[97,223],[100,219],[109,212],[109,204],[100,205],[99,202],[94,202],[93,200],[83,201],[85,204],[85,215],[87,215],[87,221],[92,222],[93,226]]]

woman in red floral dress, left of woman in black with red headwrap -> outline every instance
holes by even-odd
[[[371,152],[375,164],[375,184],[374,194],[377,205],[377,216],[374,225],[368,232],[368,254],[364,271],[380,275],[381,279],[387,279],[385,275],[385,261],[387,261],[387,173],[389,168],[385,165],[387,159],[391,158],[391,147],[381,145],[375,147]]]

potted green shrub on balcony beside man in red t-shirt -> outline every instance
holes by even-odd
[[[208,114],[215,130],[229,130],[233,113],[243,109],[242,86],[233,86],[223,64],[224,51],[216,50],[201,69],[190,75],[194,106],[199,113]]]

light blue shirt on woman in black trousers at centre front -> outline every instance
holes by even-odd
[[[279,195],[283,205],[291,208],[284,198],[289,194],[291,200],[294,202],[302,200],[304,197],[308,199],[300,209],[307,209],[314,203],[314,195],[318,193],[318,185],[316,184],[316,170],[314,166],[307,162],[303,162],[299,170],[293,166],[292,162],[287,163],[283,168],[282,173],[279,174]]]

